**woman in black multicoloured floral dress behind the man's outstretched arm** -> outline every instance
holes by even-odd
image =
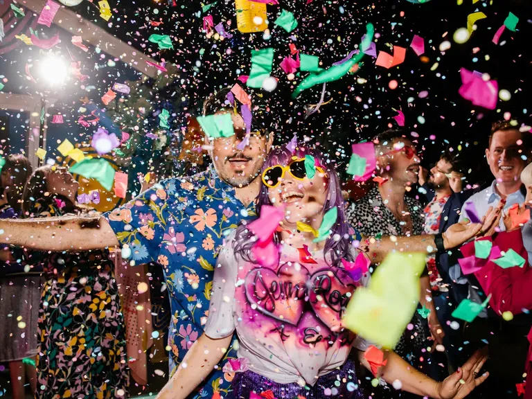
[[[63,168],[35,170],[24,192],[26,218],[79,214],[78,182]],[[48,195],[46,195],[47,193]],[[125,328],[107,251],[28,254],[44,268],[35,398],[126,398]]]

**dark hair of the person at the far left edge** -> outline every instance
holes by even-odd
[[[30,161],[24,155],[10,154],[6,157],[6,164],[1,172],[10,175],[11,183],[8,187],[4,187],[4,195],[6,195],[9,206],[16,213],[21,211],[24,186],[31,175],[31,171]]]

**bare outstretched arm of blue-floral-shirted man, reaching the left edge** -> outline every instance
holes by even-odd
[[[118,246],[113,229],[101,216],[0,220],[0,243],[43,251],[87,251]]]

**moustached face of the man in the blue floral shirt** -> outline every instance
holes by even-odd
[[[223,113],[217,112],[217,114]],[[258,177],[272,146],[273,136],[270,135],[268,140],[265,135],[251,133],[249,145],[238,150],[237,146],[245,136],[246,126],[240,114],[231,112],[231,118],[236,134],[227,138],[213,139],[207,143],[212,146],[209,154],[218,176],[231,186],[241,188]]]

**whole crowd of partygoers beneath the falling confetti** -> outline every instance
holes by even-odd
[[[170,379],[158,398],[532,398],[528,133],[510,123],[486,132],[495,179],[479,191],[464,187],[452,152],[425,170],[407,132],[388,130],[373,138],[371,188],[346,202],[327,154],[274,143],[258,118],[247,133],[229,93],[204,105],[204,115],[230,114],[235,132],[206,136],[205,172],[163,179],[104,215],[76,204],[66,168],[32,172],[24,157],[6,158],[0,362],[13,396],[24,398],[26,381],[36,398],[129,396],[109,254],[118,247],[163,268]],[[524,263],[479,256],[485,242]],[[375,348],[342,317],[392,251],[427,262],[418,311],[395,348]],[[354,276],[346,265],[360,256],[371,267]],[[452,316],[463,301],[488,303],[464,321]]]

